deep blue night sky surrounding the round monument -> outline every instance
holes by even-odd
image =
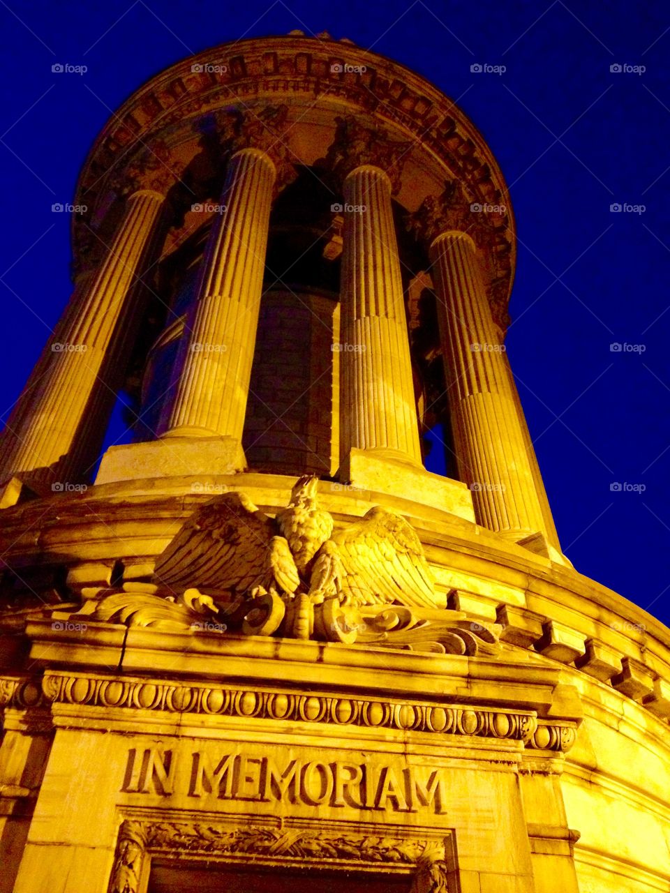
[[[519,240],[507,350],[565,553],[670,621],[666,3],[0,0],[0,27],[0,413],[69,296],[69,221],[51,205],[71,201],[110,113],[190,52],[328,30],[431,79],[488,139]],[[88,72],[53,74],[54,63]],[[473,63],[507,71],[473,74]],[[646,211],[610,213],[613,203]],[[613,342],[645,350],[615,353]]]

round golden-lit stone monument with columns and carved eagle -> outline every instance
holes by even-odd
[[[75,204],[0,449],[0,893],[668,889],[670,631],[561,552],[473,123],[243,39]]]

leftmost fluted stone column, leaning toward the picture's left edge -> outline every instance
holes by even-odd
[[[163,197],[152,189],[130,196],[103,263],[75,289],[7,423],[0,478],[67,463]]]

